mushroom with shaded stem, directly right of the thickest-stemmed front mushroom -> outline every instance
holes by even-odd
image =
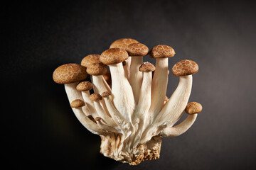
[[[139,72],[139,67],[143,63],[143,56],[147,55],[149,48],[139,42],[128,45],[127,52],[132,57],[129,72],[132,76],[129,77],[129,83],[132,86],[135,103],[139,100],[139,90],[142,86],[142,72]]]

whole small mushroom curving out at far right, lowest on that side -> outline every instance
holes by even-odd
[[[186,132],[196,121],[198,113],[202,111],[202,106],[200,103],[191,102],[187,104],[185,111],[188,113],[188,117],[183,120],[182,123],[174,127],[168,126],[164,128],[164,130],[161,132],[161,135],[165,137],[176,137]]]

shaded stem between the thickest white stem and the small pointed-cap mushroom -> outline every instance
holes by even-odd
[[[139,90],[142,86],[142,72],[139,72],[139,67],[142,65],[142,63],[143,63],[142,56],[134,56],[132,57],[132,62],[129,69],[129,72],[130,72],[129,83],[132,86],[134,101],[136,104],[139,101]]]

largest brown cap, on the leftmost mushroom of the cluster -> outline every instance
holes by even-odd
[[[80,64],[63,64],[53,72],[53,81],[58,84],[70,84],[86,79],[86,68]]]

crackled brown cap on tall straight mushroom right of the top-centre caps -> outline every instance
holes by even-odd
[[[174,57],[174,55],[174,49],[168,45],[156,45],[149,52],[152,58]]]

